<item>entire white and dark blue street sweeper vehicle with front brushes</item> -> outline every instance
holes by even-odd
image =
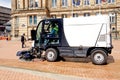
[[[28,51],[19,51],[20,58],[40,58],[44,52],[47,61],[59,57],[91,57],[94,64],[106,64],[112,51],[110,20],[108,15],[44,19],[32,31],[34,46]]]

